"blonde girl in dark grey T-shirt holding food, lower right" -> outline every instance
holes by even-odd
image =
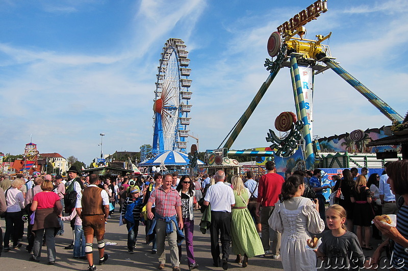
[[[357,236],[347,230],[346,218],[346,210],[338,204],[326,209],[326,224],[330,231],[323,233],[322,244],[315,250],[326,269],[352,270],[363,267],[363,251]]]

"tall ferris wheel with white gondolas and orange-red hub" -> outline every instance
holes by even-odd
[[[153,105],[153,153],[177,148],[185,152],[187,148],[192,80],[188,79],[191,69],[186,47],[181,39],[169,39],[161,53]]]

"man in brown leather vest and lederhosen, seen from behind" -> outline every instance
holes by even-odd
[[[78,193],[76,210],[82,219],[82,227],[85,235],[85,254],[88,259],[89,271],[95,271],[93,264],[92,243],[93,236],[96,237],[99,251],[99,264],[104,264],[108,260],[105,253],[105,222],[109,216],[109,196],[108,193],[100,189],[98,175],[89,175],[89,186]]]

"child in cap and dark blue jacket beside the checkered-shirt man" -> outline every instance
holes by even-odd
[[[130,187],[129,197],[126,198],[122,208],[122,222],[127,228],[127,253],[133,254],[139,232],[140,212],[144,204],[137,186]]]

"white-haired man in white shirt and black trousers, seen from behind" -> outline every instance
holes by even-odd
[[[231,252],[231,209],[235,205],[235,197],[232,188],[224,184],[224,179],[224,171],[218,170],[215,173],[216,184],[208,188],[204,205],[208,206],[211,203],[211,255],[214,266],[220,265],[218,240],[221,239],[222,269],[226,270]]]

